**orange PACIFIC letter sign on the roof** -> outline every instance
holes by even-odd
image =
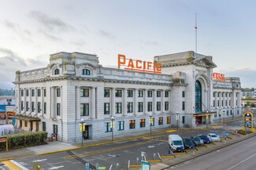
[[[118,54],[118,68],[121,68],[121,66],[123,66],[125,70],[144,71],[161,74],[161,63],[152,63],[149,61],[126,59],[124,55]]]

